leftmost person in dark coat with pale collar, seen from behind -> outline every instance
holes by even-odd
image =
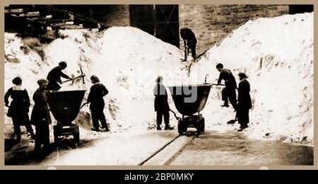
[[[20,141],[21,130],[20,125],[25,125],[26,130],[30,132],[31,139],[35,139],[35,134],[33,133],[33,128],[30,124],[29,119],[29,108],[30,108],[30,98],[28,91],[22,88],[22,79],[17,76],[12,80],[14,84],[13,87],[6,91],[4,96],[4,103],[8,107],[8,117],[12,118],[14,133],[16,134],[16,139]],[[12,101],[10,106],[8,105],[8,98],[11,97]]]

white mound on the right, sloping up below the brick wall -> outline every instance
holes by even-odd
[[[192,67],[199,78],[218,78],[217,63],[235,75],[245,71],[251,84],[253,108],[249,113],[249,137],[286,142],[313,141],[314,14],[303,13],[248,21]],[[201,76],[200,76],[201,75]],[[220,108],[221,88],[211,89],[204,110],[213,130],[232,130],[226,122],[235,118]],[[216,101],[219,100],[219,101]],[[267,134],[267,136],[266,136]]]

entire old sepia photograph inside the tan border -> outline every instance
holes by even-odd
[[[314,166],[313,4],[6,4],[5,166]]]

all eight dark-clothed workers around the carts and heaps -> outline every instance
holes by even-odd
[[[191,49],[192,57],[196,59],[196,38],[194,33],[188,28],[182,28],[180,30],[180,34],[184,39],[184,45],[187,47],[185,52],[189,53],[189,49]],[[63,73],[62,70],[66,69],[66,67],[66,62],[59,62],[57,67],[54,67],[54,69],[49,71],[47,79],[40,79],[37,81],[39,88],[37,88],[33,94],[34,106],[30,119],[28,116],[30,98],[28,96],[28,91],[25,88],[22,88],[22,79],[19,76],[12,80],[13,86],[8,89],[4,96],[5,105],[8,107],[7,115],[12,118],[16,139],[20,141],[20,126],[24,125],[30,133],[31,139],[35,139],[36,152],[41,150],[42,145],[44,149],[47,149],[49,146],[49,125],[52,123],[52,120],[49,114],[47,93],[51,93],[51,91],[59,91],[61,88],[60,84],[63,83],[61,81],[61,77],[73,80],[71,77]],[[217,64],[216,69],[220,71],[218,84],[220,84],[223,80],[225,81],[225,88],[223,88],[222,91],[222,100],[224,100],[224,104],[221,106],[229,107],[228,100],[230,100],[232,107],[236,111],[237,121],[240,124],[240,130],[238,131],[242,131],[248,127],[249,109],[252,108],[247,75],[244,73],[238,74],[240,84],[237,88],[235,77],[232,75],[230,69],[223,68],[223,64]],[[109,128],[107,127],[107,121],[103,113],[105,108],[103,97],[107,95],[108,90],[100,83],[98,76],[93,75],[90,77],[90,80],[93,86],[90,88],[87,102],[83,105],[90,103],[90,112],[93,122],[92,130],[97,132],[100,131],[100,121],[102,130],[107,132],[109,131]],[[155,96],[155,112],[157,113],[157,130],[161,130],[160,125],[163,120],[165,122],[165,130],[172,130],[173,127],[170,127],[169,125],[170,107],[167,101],[167,91],[163,85],[163,77],[158,76],[155,82],[156,84],[155,88],[153,88],[153,94]],[[237,98],[236,89],[238,92]],[[9,97],[12,98],[10,105],[8,100]],[[33,132],[33,127],[31,125],[35,126],[36,133]]]

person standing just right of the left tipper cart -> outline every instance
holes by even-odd
[[[100,79],[97,76],[93,75],[90,77],[90,80],[93,83],[93,86],[90,87],[90,93],[88,94],[87,103],[90,103],[90,113],[92,115],[93,129],[97,132],[100,131],[100,123],[102,124],[102,129],[105,131],[110,131],[107,127],[106,117],[104,115],[104,96],[108,94],[107,88],[100,83]],[[83,105],[84,105],[83,104]]]

